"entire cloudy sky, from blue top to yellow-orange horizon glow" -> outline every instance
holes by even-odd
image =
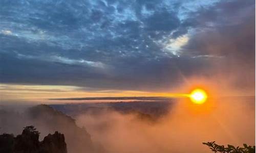
[[[2,0],[0,20],[1,101],[255,95],[255,1]]]

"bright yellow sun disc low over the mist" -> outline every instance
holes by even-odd
[[[191,101],[195,104],[203,104],[207,99],[207,94],[202,89],[195,89],[189,95]]]

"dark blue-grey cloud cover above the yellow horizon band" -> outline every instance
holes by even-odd
[[[216,31],[224,31],[230,35],[224,38],[231,41],[233,31],[240,30],[238,35],[246,40],[234,43],[252,54],[251,44],[240,44],[248,42],[250,33],[241,29],[247,18],[255,16],[248,11],[255,9],[253,1],[198,4],[201,8],[187,3],[1,1],[0,81],[164,90],[183,82],[183,77],[208,75],[212,61],[220,60],[210,57],[225,56],[224,51],[207,52],[207,42],[199,41],[211,39]],[[180,55],[166,49],[170,39],[186,34],[189,41],[178,48]]]

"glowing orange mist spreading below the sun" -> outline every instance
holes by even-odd
[[[202,142],[255,144],[254,99],[212,98],[202,106],[179,99],[155,122],[116,111],[82,114],[76,122],[106,152],[210,152]]]

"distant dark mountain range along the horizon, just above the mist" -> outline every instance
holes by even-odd
[[[116,111],[122,114],[137,114],[138,118],[155,121],[169,112],[172,106],[175,105],[173,102],[174,100],[170,99],[158,99],[156,101],[58,104],[50,106],[72,117],[86,113],[100,114],[102,111]]]

